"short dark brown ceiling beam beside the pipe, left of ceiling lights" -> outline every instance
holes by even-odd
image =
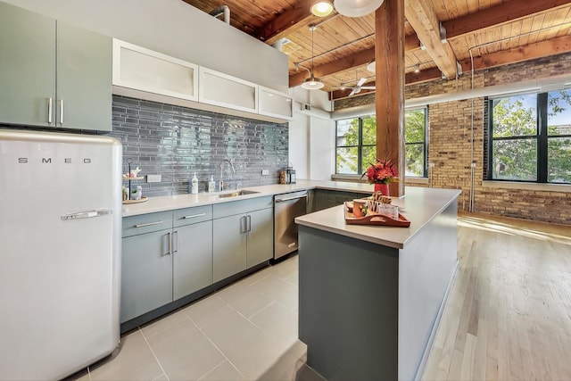
[[[287,33],[291,33],[292,28],[302,28],[303,25],[300,25],[302,21],[312,16],[310,7],[314,2],[315,0],[294,2],[294,8],[277,15],[275,19],[264,24],[260,29],[256,30],[254,36],[268,44],[273,44],[285,35],[286,30]]]

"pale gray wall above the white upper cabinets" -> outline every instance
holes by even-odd
[[[4,2],[277,91],[288,91],[286,54],[182,0]]]

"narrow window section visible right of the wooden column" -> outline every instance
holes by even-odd
[[[426,178],[426,108],[404,112],[405,176]]]

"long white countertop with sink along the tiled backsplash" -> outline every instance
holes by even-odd
[[[275,184],[270,186],[251,186],[244,188],[245,190],[258,192],[252,195],[219,198],[220,194],[231,193],[233,192],[232,190],[217,193],[201,193],[198,195],[165,195],[158,197],[149,197],[148,201],[145,203],[123,204],[121,209],[123,217],[128,217],[137,216],[139,214],[154,213],[156,211],[173,211],[176,209],[190,208],[193,206],[208,205],[213,203],[229,203],[238,200],[247,200],[249,198],[268,195],[280,195],[299,190],[316,188],[364,193],[369,195],[373,193],[373,186],[370,184],[350,183],[343,181],[297,180],[296,184]]]

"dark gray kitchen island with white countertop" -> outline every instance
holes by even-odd
[[[416,379],[458,268],[457,198],[407,187],[410,228],[346,225],[343,205],[298,217],[299,338],[328,380]]]

